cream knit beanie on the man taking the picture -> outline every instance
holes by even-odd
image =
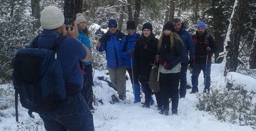
[[[48,6],[41,12],[41,26],[46,30],[53,30],[64,24],[64,15],[59,8]]]

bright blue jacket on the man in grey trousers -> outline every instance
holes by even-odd
[[[124,58],[121,57],[120,50],[121,41],[124,36],[125,34],[119,30],[114,35],[108,31],[99,39],[99,42],[101,42],[99,51],[106,52],[108,68],[120,68],[124,66]]]

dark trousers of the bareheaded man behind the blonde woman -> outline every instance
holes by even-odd
[[[181,63],[181,72],[180,72],[180,97],[185,97],[187,92],[187,69],[188,63]]]

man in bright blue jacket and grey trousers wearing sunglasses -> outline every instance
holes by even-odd
[[[108,32],[99,39],[97,49],[99,49],[99,51],[105,51],[110,80],[117,90],[118,98],[125,100],[126,68],[120,50],[121,41],[125,35],[117,30],[117,22],[114,19],[109,19],[108,27]]]

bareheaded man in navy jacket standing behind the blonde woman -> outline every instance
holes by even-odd
[[[185,98],[187,90],[187,66],[189,63],[189,68],[192,69],[194,67],[193,58],[195,55],[195,46],[193,45],[191,34],[185,30],[186,26],[184,23],[181,23],[181,20],[179,18],[173,19],[173,25],[175,32],[180,36],[183,42],[183,58],[181,60],[180,75],[180,98]]]

